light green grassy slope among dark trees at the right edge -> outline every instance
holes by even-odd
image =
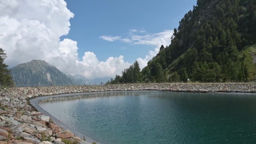
[[[249,80],[256,79],[256,63],[253,63],[253,57],[256,58],[256,45],[250,46],[244,50],[246,58],[244,64],[247,65],[249,72]]]

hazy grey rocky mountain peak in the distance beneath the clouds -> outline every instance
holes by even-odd
[[[10,69],[10,74],[16,85],[49,85],[74,83],[75,80],[67,77],[56,67],[42,60],[32,60],[19,64]]]

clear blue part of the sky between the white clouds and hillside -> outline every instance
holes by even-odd
[[[99,61],[110,56],[124,56],[133,63],[144,58],[155,45],[109,42],[100,36],[129,37],[130,30],[145,31],[138,35],[155,34],[173,30],[180,19],[193,9],[196,0],[65,0],[68,9],[74,13],[70,19],[68,38],[75,40],[81,59],[84,52],[91,51]],[[170,44],[170,43],[169,43]],[[168,45],[169,45],[168,44]]]

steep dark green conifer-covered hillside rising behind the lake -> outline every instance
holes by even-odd
[[[135,71],[138,79],[125,78],[133,64],[112,82],[253,80],[255,43],[255,0],[198,0],[174,28],[171,44]]]

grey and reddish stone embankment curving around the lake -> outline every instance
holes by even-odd
[[[32,87],[0,89],[0,144],[89,144],[51,123],[48,116],[30,106],[27,98],[95,91],[159,90],[178,92],[255,93],[255,83],[155,83],[103,86]]]

